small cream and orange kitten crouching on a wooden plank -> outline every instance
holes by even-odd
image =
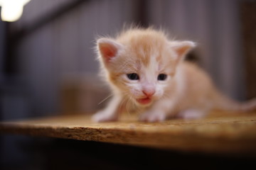
[[[139,120],[148,122],[201,118],[213,108],[256,108],[256,100],[238,103],[220,94],[206,72],[184,61],[193,47],[195,42],[169,40],[165,33],[152,28],[133,28],[117,38],[97,40],[102,72],[113,97],[92,119],[114,121],[132,106],[142,111]]]

